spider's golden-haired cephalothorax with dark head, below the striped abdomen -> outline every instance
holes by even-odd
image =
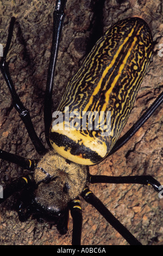
[[[39,208],[57,215],[84,190],[87,168],[51,150],[37,163],[34,180],[37,185],[34,191],[35,202]]]

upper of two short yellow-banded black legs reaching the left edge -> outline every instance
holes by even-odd
[[[26,159],[25,157],[17,156],[1,149],[0,149],[0,158],[12,163],[16,163],[18,166],[27,170],[33,170],[37,164],[37,160]]]

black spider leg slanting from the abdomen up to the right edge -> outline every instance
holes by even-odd
[[[155,110],[163,102],[163,92],[156,98],[152,105],[147,109],[147,111],[140,117],[139,120],[115,143],[114,147],[111,149],[110,153],[106,156],[110,156],[120,149],[124,144],[126,144],[131,137],[140,129],[140,127],[146,123],[146,121],[151,117]]]

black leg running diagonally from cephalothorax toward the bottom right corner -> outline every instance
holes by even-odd
[[[130,245],[141,245],[135,236],[133,236],[130,231],[124,227],[124,225],[118,221],[114,215],[111,214],[111,212],[105,207],[101,200],[99,200],[95,194],[89,190],[88,187],[83,190],[81,196],[86,200],[87,203],[93,205],[96,210],[105,218],[105,220],[110,223],[112,227],[114,227]]]

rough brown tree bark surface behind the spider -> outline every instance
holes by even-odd
[[[18,95],[29,109],[37,135],[45,143],[43,125],[43,96],[51,48],[54,0],[0,2],[1,44],[7,40],[10,17],[16,17],[14,36],[8,54],[12,80]],[[58,56],[53,90],[53,111],[57,108],[68,80],[76,72],[85,55],[106,29],[118,20],[139,16],[151,28],[154,50],[149,68],[137,95],[133,111],[124,131],[140,117],[161,92],[163,44],[161,0],[68,0],[64,29]],[[163,53],[163,52],[162,52]],[[159,56],[160,55],[160,56]],[[10,153],[37,159],[24,125],[12,106],[7,85],[1,75],[0,148]],[[162,109],[114,155],[90,168],[91,174],[142,175],[149,174],[163,184],[162,175]],[[47,147],[47,146],[46,146]],[[22,176],[26,171],[1,161],[1,185]],[[141,185],[90,185],[90,189],[107,208],[144,245],[163,244],[163,199],[151,187]],[[17,194],[1,205],[1,245],[71,245],[72,219],[68,233],[61,236],[53,225],[38,223],[32,217],[20,222],[15,211]],[[82,245],[126,245],[127,242],[99,213],[82,199]]]

